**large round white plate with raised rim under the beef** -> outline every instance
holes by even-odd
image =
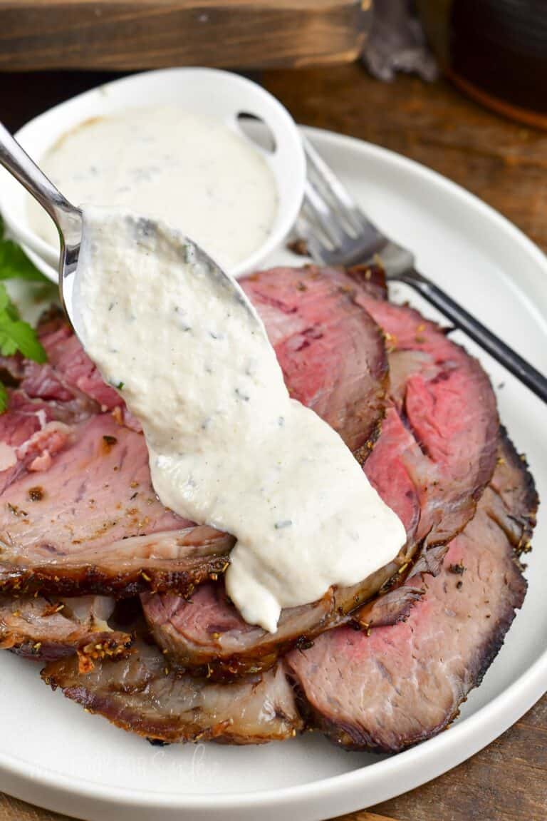
[[[547,370],[547,261],[536,245],[416,163],[326,131],[307,133],[381,226],[417,251],[425,273]],[[280,250],[269,262],[299,260]],[[545,406],[481,359],[495,385],[504,383],[501,417],[547,494]],[[530,589],[504,648],[458,722],[431,741],[391,758],[346,753],[312,734],[262,747],[152,747],[52,693],[38,667],[2,653],[0,789],[93,821],[317,821],[417,787],[499,736],[547,688],[544,518],[529,557]]]

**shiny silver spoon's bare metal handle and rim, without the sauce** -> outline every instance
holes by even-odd
[[[62,195],[51,180],[40,171],[17,140],[0,122],[0,164],[25,186],[57,226],[61,238],[59,262],[59,295],[62,306],[74,328],[72,287],[80,254],[82,213]],[[76,331],[76,328],[75,328]],[[77,331],[76,331],[77,333]]]

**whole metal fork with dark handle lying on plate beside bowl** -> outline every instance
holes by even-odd
[[[419,273],[414,268],[413,252],[385,236],[358,208],[306,137],[303,137],[303,143],[308,158],[308,181],[299,231],[303,232],[314,262],[325,265],[366,264],[377,255],[388,281],[406,282],[536,396],[547,401],[547,378],[434,282]]]

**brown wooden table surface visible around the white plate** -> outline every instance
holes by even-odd
[[[103,79],[75,73],[0,76],[2,119],[16,129]],[[435,168],[499,209],[547,251],[547,133],[490,114],[444,82],[424,85],[401,77],[381,85],[356,65],[270,71],[262,81],[299,122],[371,140]],[[547,819],[547,696],[465,764],[344,821],[472,818]],[[0,794],[0,821],[8,819],[62,816]]]

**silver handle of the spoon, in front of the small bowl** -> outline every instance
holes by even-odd
[[[80,226],[80,212],[66,200],[51,180],[40,171],[17,140],[0,122],[0,165],[3,165],[39,201],[61,234],[67,238]],[[75,217],[78,220],[75,221]],[[77,226],[75,225],[77,223]]]

